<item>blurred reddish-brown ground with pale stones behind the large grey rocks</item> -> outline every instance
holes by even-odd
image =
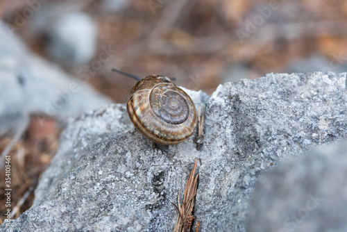
[[[176,77],[176,85],[208,94],[271,72],[347,68],[344,0],[8,0],[0,1],[0,17],[32,53],[115,103],[126,102],[135,81],[112,67]],[[54,114],[29,116],[22,133],[0,133],[1,152],[18,135],[9,151],[12,217],[31,206],[63,128]]]

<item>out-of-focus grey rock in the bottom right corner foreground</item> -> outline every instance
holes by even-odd
[[[266,172],[257,182],[247,231],[347,231],[347,144]]]

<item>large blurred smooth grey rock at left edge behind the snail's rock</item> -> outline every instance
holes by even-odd
[[[83,81],[28,51],[0,22],[0,135],[17,131],[30,114],[66,121],[110,103]]]

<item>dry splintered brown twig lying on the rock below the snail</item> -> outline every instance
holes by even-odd
[[[196,165],[198,165],[198,158],[195,158],[194,167],[192,172],[189,173],[187,184],[185,185],[185,197],[183,198],[182,206],[180,205],[180,197],[178,194],[178,206],[172,203],[179,213],[174,232],[187,232],[192,228],[192,222],[194,220],[193,210],[196,197],[196,188],[198,186],[198,174],[195,175]],[[200,221],[196,226],[196,232],[198,231],[199,224]]]

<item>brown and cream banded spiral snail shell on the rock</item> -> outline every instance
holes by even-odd
[[[196,108],[186,92],[162,75],[146,76],[133,87],[128,115],[144,136],[158,144],[178,144],[196,127]]]

